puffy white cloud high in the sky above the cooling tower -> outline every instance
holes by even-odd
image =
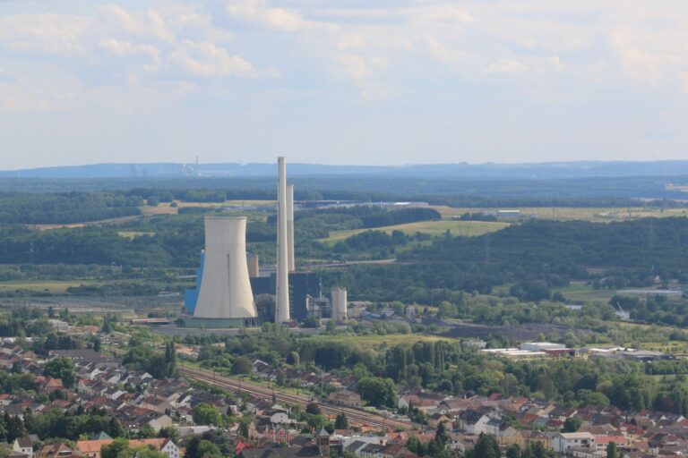
[[[176,64],[197,76],[252,76],[254,66],[238,55],[229,55],[227,49],[212,43],[194,43],[184,40],[168,56]]]

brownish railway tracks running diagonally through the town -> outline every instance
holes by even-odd
[[[208,370],[192,368],[180,368],[179,370],[183,375],[185,375],[185,377],[192,378],[193,380],[228,388],[232,391],[244,391],[248,394],[253,394],[256,397],[266,400],[271,400],[272,395],[274,394],[275,399],[280,401],[280,403],[297,404],[305,408],[306,404],[310,402],[310,398],[308,396],[287,394],[278,391],[273,392],[271,388],[266,388],[265,386],[256,385],[243,380],[219,376]],[[320,406],[320,410],[326,415],[332,417],[338,415],[340,412],[344,412],[350,422],[358,423],[362,426],[383,429],[411,429],[414,427],[413,423],[410,421],[388,419],[372,412],[357,411],[356,409],[351,409],[349,407],[333,406],[323,403],[319,403],[318,405]]]

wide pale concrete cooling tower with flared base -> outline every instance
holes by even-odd
[[[206,216],[203,277],[193,318],[255,318],[246,218]]]

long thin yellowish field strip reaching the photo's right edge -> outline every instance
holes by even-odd
[[[439,211],[443,218],[459,217],[465,213],[491,213],[496,208],[451,208],[444,206],[433,207]],[[649,216],[688,216],[687,208],[499,208],[501,210],[520,210],[521,217],[538,217],[543,219],[555,219],[558,221],[584,220],[596,223],[608,223],[610,221],[624,221]]]

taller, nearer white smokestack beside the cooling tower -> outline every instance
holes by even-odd
[[[277,183],[277,301],[275,323],[284,323],[289,321],[287,163],[284,157],[278,157],[277,164],[279,179]]]

